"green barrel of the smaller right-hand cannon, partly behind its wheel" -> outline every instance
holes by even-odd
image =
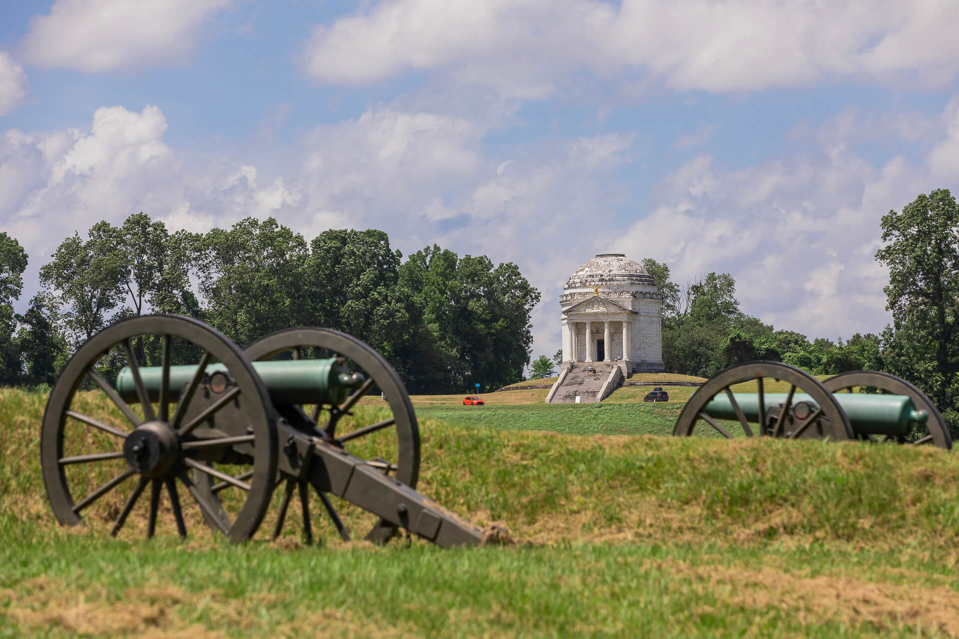
[[[736,393],[735,397],[747,420],[761,422],[759,395]],[[785,393],[766,393],[763,397],[765,407],[768,409],[770,406],[784,403],[787,396]],[[928,419],[925,411],[916,410],[912,399],[904,395],[836,393],[832,397],[842,406],[846,417],[853,424],[854,431],[861,435],[907,435],[912,430],[913,424],[925,423]],[[819,404],[804,393],[797,393],[792,398],[793,405],[800,401],[811,404],[812,410],[819,407]],[[706,405],[706,412],[717,420],[737,420],[733,404],[725,394],[714,397]]]

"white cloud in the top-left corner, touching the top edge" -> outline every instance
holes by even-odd
[[[41,68],[88,73],[176,62],[202,23],[231,0],[57,0],[30,21],[23,59]]]

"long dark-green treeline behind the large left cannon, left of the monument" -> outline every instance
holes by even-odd
[[[386,233],[331,230],[307,242],[275,219],[169,233],[140,213],[64,240],[40,269],[44,290],[12,312],[27,255],[0,233],[0,385],[52,384],[69,354],[120,319],[174,312],[241,346],[321,326],[384,354],[413,393],[517,381],[540,292],[512,262],[433,245],[404,262]]]

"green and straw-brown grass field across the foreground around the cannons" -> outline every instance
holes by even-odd
[[[148,542],[53,521],[44,402],[0,390],[0,637],[959,636],[959,463],[938,449],[647,434],[678,401],[417,399],[417,488],[517,543],[375,548],[320,519],[318,547],[232,546],[192,502],[186,541],[164,502]]]

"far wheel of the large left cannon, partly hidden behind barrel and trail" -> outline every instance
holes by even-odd
[[[416,488],[420,463],[419,426],[406,387],[383,355],[345,332],[314,328],[296,328],[273,332],[250,344],[246,348],[246,354],[252,361],[269,359],[281,354],[290,354],[289,356],[292,356],[293,359],[299,359],[307,356],[312,349],[322,349],[331,354],[345,357],[352,364],[354,370],[363,373],[366,377],[363,386],[339,406],[317,405],[309,413],[304,413],[304,416],[308,417],[313,425],[316,436],[324,439],[329,438],[334,444],[341,445],[349,450],[351,445],[362,443],[366,436],[390,428],[396,435],[397,457],[395,460],[376,457],[367,463],[374,466],[379,465],[384,469],[384,472],[395,479],[410,488]],[[351,415],[352,408],[374,386],[379,387],[386,394],[386,403],[392,415],[380,422],[369,424],[358,422],[350,432],[339,432],[339,420],[344,415]],[[278,536],[281,531],[283,515],[285,515],[292,498],[294,485],[298,483],[292,477],[281,478],[281,482],[284,479],[286,480],[286,491],[280,507],[281,515],[278,517],[273,531],[274,537]],[[305,496],[306,486],[304,484],[300,485],[300,491],[303,528],[308,540],[310,540],[312,533],[309,506],[307,505],[309,501]],[[317,493],[337,527],[339,535],[344,540],[349,540],[349,532],[340,522],[329,495],[322,491],[317,491]],[[396,530],[395,526],[380,519],[373,525],[365,538],[374,543],[386,543],[396,533]]]

